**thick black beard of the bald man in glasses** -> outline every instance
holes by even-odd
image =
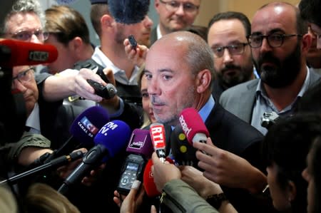
[[[295,50],[283,61],[273,56],[272,52],[264,53],[258,58],[258,61],[255,61],[253,58],[255,68],[261,80],[271,88],[284,88],[287,85],[291,85],[300,73],[300,60],[301,51],[299,42],[297,42]],[[265,62],[274,63],[274,66],[262,66]]]

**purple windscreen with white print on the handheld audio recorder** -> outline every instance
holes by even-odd
[[[151,158],[154,148],[149,130],[135,129],[131,134],[126,152],[143,155],[146,159]]]

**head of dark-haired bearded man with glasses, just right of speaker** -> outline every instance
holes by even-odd
[[[246,36],[251,25],[244,14],[228,11],[215,14],[208,24],[208,45],[213,51],[215,79],[212,95],[220,99],[224,90],[255,78]],[[255,73],[255,74],[254,74]]]

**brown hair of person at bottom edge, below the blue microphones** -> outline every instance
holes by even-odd
[[[80,213],[63,194],[40,182],[29,187],[24,207],[31,213]]]

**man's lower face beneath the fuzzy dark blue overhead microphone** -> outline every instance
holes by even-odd
[[[153,21],[145,16],[145,19],[137,24],[117,24],[116,42],[123,45],[123,40],[129,35],[133,35],[139,44],[145,46],[151,45],[151,27],[153,26]]]

